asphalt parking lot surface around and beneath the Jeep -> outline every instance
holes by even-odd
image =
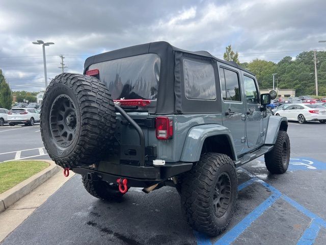
[[[173,188],[131,188],[122,201],[105,202],[76,175],[3,244],[325,244],[326,126],[289,122],[288,134],[285,174],[269,175],[263,157],[237,169],[237,209],[218,237],[187,226]],[[0,139],[0,161],[49,158],[39,126],[2,127]]]

